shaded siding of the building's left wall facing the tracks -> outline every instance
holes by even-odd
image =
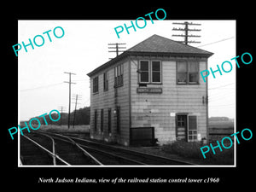
[[[114,88],[114,67],[123,64],[124,74],[123,74],[123,85]],[[121,61],[114,65],[113,67],[106,68],[102,73],[96,73],[91,77],[99,77],[99,92],[94,94],[92,90],[90,91],[90,137],[106,140],[108,142],[117,141],[125,145],[129,144],[129,100],[128,100],[128,61]],[[108,90],[103,90],[103,73],[108,71]],[[92,81],[90,81],[90,87],[93,86]],[[116,93],[115,93],[116,91]],[[117,97],[115,97],[117,94]],[[117,133],[117,119],[116,114],[113,111],[118,107],[120,110],[120,131]],[[111,108],[111,133],[108,132],[108,109]],[[104,110],[104,125],[103,132],[101,132],[101,109]],[[94,122],[94,112],[97,110],[97,129],[95,131]]]

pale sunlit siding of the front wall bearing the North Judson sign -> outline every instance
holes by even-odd
[[[155,137],[160,143],[176,140],[175,117],[170,113],[189,113],[198,116],[198,133],[207,137],[206,84],[177,84],[176,61],[162,61],[163,84],[148,84],[147,87],[162,88],[161,94],[137,93],[137,63],[131,61],[131,127],[154,126]],[[200,69],[207,66],[200,61]]]

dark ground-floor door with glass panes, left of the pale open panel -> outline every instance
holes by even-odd
[[[187,141],[187,114],[177,114],[176,139]]]

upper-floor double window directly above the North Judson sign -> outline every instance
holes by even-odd
[[[139,65],[140,84],[160,84],[161,83],[161,62],[160,61],[140,61]]]

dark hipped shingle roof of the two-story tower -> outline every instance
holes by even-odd
[[[187,44],[178,43],[169,38],[164,38],[159,35],[153,35],[139,44],[131,47],[130,49],[125,50],[124,53],[118,55],[103,64],[100,67],[97,67],[92,72],[87,75],[90,77],[93,74],[105,69],[116,63],[117,61],[125,58],[127,55],[142,55],[142,54],[156,54],[156,55],[173,55],[173,56],[201,56],[201,57],[210,57],[213,53],[198,49]]]

